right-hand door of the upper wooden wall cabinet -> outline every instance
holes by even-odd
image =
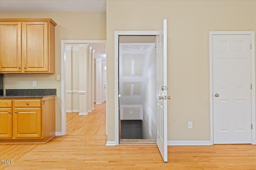
[[[22,22],[24,72],[48,72],[48,22]]]

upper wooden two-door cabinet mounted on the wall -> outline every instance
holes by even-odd
[[[51,19],[0,19],[0,73],[55,73]]]

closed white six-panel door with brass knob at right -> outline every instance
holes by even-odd
[[[213,35],[214,144],[251,143],[250,35]]]

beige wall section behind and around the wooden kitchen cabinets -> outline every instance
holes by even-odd
[[[1,12],[0,18],[52,18],[55,28],[56,74],[61,74],[60,40],[105,40],[106,12]],[[56,131],[61,131],[61,82],[55,74],[5,74],[4,88],[56,88]]]

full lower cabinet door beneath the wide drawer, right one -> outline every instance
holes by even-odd
[[[15,138],[41,137],[41,108],[15,108],[13,134]]]

